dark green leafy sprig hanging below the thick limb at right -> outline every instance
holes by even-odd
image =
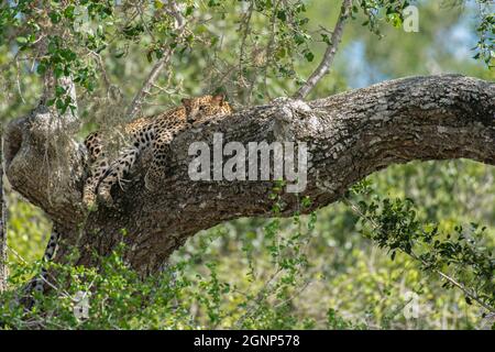
[[[359,185],[354,190],[367,188]],[[495,312],[495,258],[483,243],[486,227],[471,223],[469,231],[454,227],[454,233],[439,232],[439,224],[422,224],[409,198],[391,200],[375,196],[351,207],[360,215],[363,233],[380,248],[387,249],[394,260],[397,251],[417,260],[424,272],[441,275],[442,287],[461,288],[468,304],[472,299]],[[366,229],[366,224],[371,224]],[[371,229],[370,229],[371,228]]]

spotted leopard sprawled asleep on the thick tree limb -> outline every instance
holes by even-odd
[[[167,151],[172,141],[185,130],[208,124],[212,119],[234,112],[222,94],[183,98],[180,102],[180,106],[165,112],[140,117],[127,123],[123,132],[129,143],[113,162],[105,153],[106,141],[101,132],[92,132],[85,139],[84,144],[92,165],[82,191],[82,202],[87,208],[94,208],[97,199],[112,205],[111,188],[124,182],[124,175],[146,151],[151,151],[152,161],[144,177],[144,186],[148,190],[156,190],[166,172]]]

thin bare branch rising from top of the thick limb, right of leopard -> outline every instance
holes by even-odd
[[[328,74],[330,66],[332,65],[333,57],[336,56],[340,41],[342,40],[344,24],[351,14],[352,0],[344,0],[340,9],[339,19],[337,20],[336,28],[333,29],[330,43],[324,52],[321,63],[317,69],[309,76],[306,82],[299,88],[299,90],[293,96],[294,99],[304,99],[309,91],[318,84],[318,81]]]

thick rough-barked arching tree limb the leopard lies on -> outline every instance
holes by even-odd
[[[157,271],[189,237],[240,217],[270,217],[271,182],[193,182],[188,146],[211,143],[215,132],[230,141],[299,141],[311,153],[307,211],[339,200],[348,187],[391,164],[471,158],[495,165],[495,85],[463,76],[413,77],[302,102],[276,99],[178,135],[160,191],[144,188],[146,157],[129,176],[125,191],[112,190],[116,206],[85,212],[81,189],[85,152],[59,136],[43,106],[6,131],[6,172],[12,187],[64,230],[63,261],[70,245],[79,264],[95,265],[91,251],[108,254],[123,240],[127,260],[142,274]],[[226,157],[227,160],[228,157]],[[246,168],[248,170],[248,168]],[[283,194],[284,216],[297,207]],[[122,235],[125,229],[127,235]]]

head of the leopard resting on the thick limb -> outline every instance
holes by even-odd
[[[189,123],[198,122],[207,117],[227,116],[233,112],[223,95],[184,98],[182,102]]]

